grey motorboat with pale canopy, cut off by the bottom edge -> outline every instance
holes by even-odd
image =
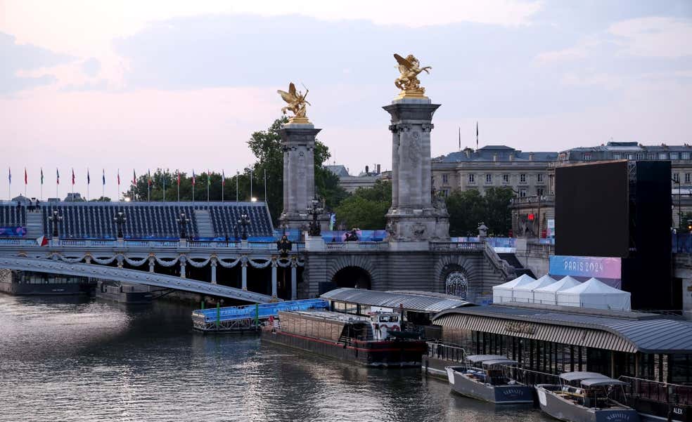
[[[578,383],[578,387],[569,383]],[[627,383],[596,372],[565,372],[560,384],[538,384],[541,410],[567,422],[639,422],[639,414],[615,400]]]

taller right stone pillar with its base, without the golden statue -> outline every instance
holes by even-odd
[[[392,207],[387,212],[391,249],[427,250],[429,240],[449,240],[444,200],[432,197],[430,131],[439,104],[400,98],[383,107],[391,115]]]

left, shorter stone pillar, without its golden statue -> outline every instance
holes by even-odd
[[[315,195],[315,136],[312,123],[287,123],[279,133],[283,147],[283,212],[281,226],[307,230],[307,206]]]

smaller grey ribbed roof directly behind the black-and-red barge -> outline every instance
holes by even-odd
[[[328,291],[320,296],[330,301],[358,303],[359,305],[399,308],[416,312],[440,312],[451,308],[473,305],[461,298],[443,294],[416,293],[413,291],[376,291],[342,287]]]

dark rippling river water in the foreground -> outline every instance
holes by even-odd
[[[0,421],[550,421],[450,393],[417,369],[352,367],[190,309],[0,294]]]

